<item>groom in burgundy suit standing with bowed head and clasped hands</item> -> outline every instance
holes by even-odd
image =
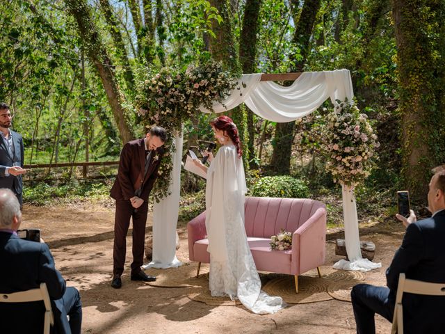
[[[120,276],[124,271],[126,237],[133,217],[133,262],[131,280],[149,282],[156,280],[147,276],[140,266],[144,258],[145,224],[147,223],[148,196],[158,176],[163,156],[163,144],[167,134],[163,127],[152,127],[145,138],[129,141],[120,153],[118,177],[111,188],[110,196],[116,200],[113,281],[115,289],[122,287]]]

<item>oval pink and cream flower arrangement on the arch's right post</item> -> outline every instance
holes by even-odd
[[[360,113],[353,101],[337,100],[334,111],[327,116],[321,138],[326,169],[332,173],[334,182],[356,186],[369,176],[380,143],[368,116]]]

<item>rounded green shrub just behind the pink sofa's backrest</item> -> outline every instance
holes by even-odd
[[[249,192],[250,196],[308,198],[306,182],[291,176],[266,176],[257,180]]]

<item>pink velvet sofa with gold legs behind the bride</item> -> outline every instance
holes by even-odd
[[[188,256],[191,261],[209,263],[205,212],[188,222]],[[271,250],[270,237],[283,228],[293,232],[291,250]],[[259,271],[295,276],[325,262],[326,208],[322,202],[302,198],[248,197],[245,200],[245,232]]]

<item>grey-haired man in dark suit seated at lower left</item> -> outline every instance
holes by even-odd
[[[82,305],[79,292],[74,287],[66,287],[65,280],[54,267],[47,244],[17,237],[21,218],[20,204],[13,191],[0,189],[0,293],[26,291],[46,283],[54,315],[52,333],[80,334]],[[0,315],[3,319],[1,333],[43,331],[42,301],[0,303]]]

